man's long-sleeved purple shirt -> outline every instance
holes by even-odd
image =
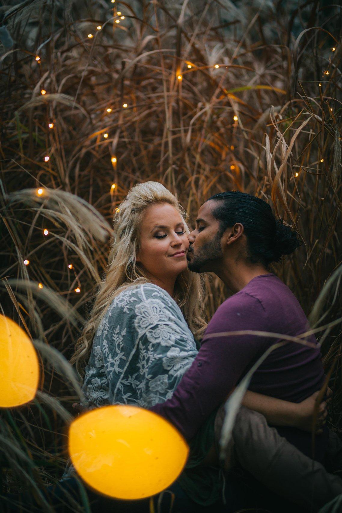
[[[265,352],[281,339],[234,335],[206,339],[209,333],[258,330],[297,336],[309,328],[306,315],[291,290],[274,274],[253,278],[216,310],[202,345],[171,399],[150,408],[168,419],[187,440],[194,437],[210,413]],[[274,349],[254,372],[249,390],[298,403],[324,382],[319,346],[289,342]],[[277,428],[311,456],[311,435],[296,428]],[[316,459],[323,457],[326,437],[316,437]]]

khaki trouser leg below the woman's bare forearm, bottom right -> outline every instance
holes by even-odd
[[[224,417],[223,405],[215,420],[216,447]],[[225,470],[229,471],[236,462],[279,496],[311,511],[318,511],[342,494],[339,477],[280,437],[263,415],[244,406],[236,417]],[[330,433],[328,463],[331,471],[342,468],[342,442],[335,433]]]

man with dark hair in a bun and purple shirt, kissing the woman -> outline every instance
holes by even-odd
[[[189,241],[189,269],[214,272],[233,295],[213,315],[199,352],[173,397],[150,408],[172,422],[187,440],[225,402],[259,357],[274,343],[283,342],[284,336],[303,338],[307,344],[292,341],[279,344],[254,372],[249,390],[298,403],[322,388],[325,381],[315,336],[303,337],[310,329],[303,309],[290,289],[268,269],[270,263],[279,261],[282,255],[292,253],[300,245],[297,234],[282,221],[275,220],[270,206],[242,192],[212,196],[200,207]],[[236,333],[239,331],[248,333]],[[253,331],[262,334],[250,334]],[[225,336],[227,332],[235,334]],[[265,332],[278,333],[279,337],[266,336]],[[255,403],[253,409],[257,410]],[[244,429],[244,425],[240,428]],[[326,427],[315,436],[314,455],[311,433],[287,426],[277,427],[277,431],[307,456],[324,461],[328,444]],[[324,500],[329,488],[324,467],[311,460],[308,462],[312,467],[308,462],[291,459],[289,456],[289,486],[292,483],[295,487],[296,480],[303,478],[310,489],[311,482],[314,510],[317,510],[318,502]],[[280,476],[276,472],[272,475],[270,469],[264,470],[276,489]],[[326,489],[319,490],[317,485]],[[320,493],[323,495],[318,497]],[[302,499],[298,495],[294,498],[307,506]]]

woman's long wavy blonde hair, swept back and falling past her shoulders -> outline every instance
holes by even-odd
[[[136,262],[139,250],[139,232],[145,210],[156,203],[169,203],[182,216],[186,233],[186,213],[175,196],[158,182],[137,184],[114,214],[113,242],[108,257],[106,277],[97,285],[95,300],[81,337],[76,342],[70,363],[76,363],[79,376],[84,377],[84,368],[91,353],[95,332],[113,299],[132,285],[149,283],[144,268]],[[188,269],[180,273],[174,287],[174,300],[182,310],[194,337],[199,340],[207,326],[203,319],[203,282],[199,274]]]

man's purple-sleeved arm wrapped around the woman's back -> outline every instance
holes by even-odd
[[[257,336],[206,336],[224,331],[267,330],[262,305],[245,293],[225,301],[210,321],[202,346],[171,399],[150,408],[168,419],[187,440],[232,391],[268,341]]]

